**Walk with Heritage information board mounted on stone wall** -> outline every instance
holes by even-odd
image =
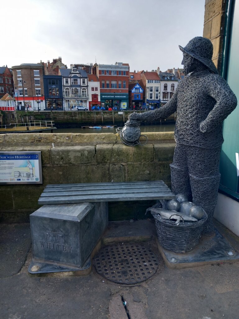
[[[0,152],[0,184],[42,184],[41,152]]]

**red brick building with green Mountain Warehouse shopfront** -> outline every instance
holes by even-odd
[[[128,108],[128,63],[95,63],[92,74],[97,75],[100,81],[101,106],[118,110]]]

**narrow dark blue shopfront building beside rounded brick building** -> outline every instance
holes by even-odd
[[[46,110],[63,110],[62,77],[58,75],[44,75],[44,92]]]

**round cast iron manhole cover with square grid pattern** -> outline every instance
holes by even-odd
[[[93,264],[103,277],[124,284],[144,281],[158,269],[153,251],[138,244],[103,247],[94,257]]]

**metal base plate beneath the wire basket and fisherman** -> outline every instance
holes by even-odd
[[[202,236],[199,244],[192,251],[178,254],[166,250],[158,243],[164,262],[171,269],[196,267],[212,263],[239,261],[238,252],[229,244],[215,228],[211,236]],[[228,255],[229,253],[229,255]],[[233,254],[231,256],[231,254]]]

